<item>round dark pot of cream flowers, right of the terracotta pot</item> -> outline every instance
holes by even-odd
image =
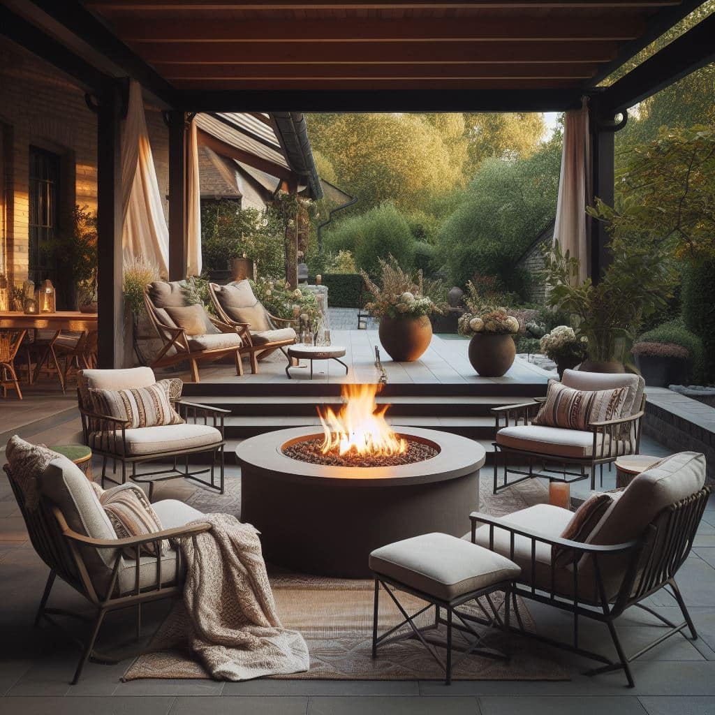
[[[516,358],[513,336],[519,330],[519,322],[506,308],[465,312],[458,330],[460,335],[471,336],[469,362],[483,378],[501,378],[511,368]]]

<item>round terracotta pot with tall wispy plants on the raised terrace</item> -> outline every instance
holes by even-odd
[[[385,351],[398,363],[412,363],[427,350],[432,340],[430,315],[443,312],[443,305],[426,295],[422,271],[416,280],[398,262],[379,259],[380,285],[361,271],[373,300],[365,305],[380,321],[379,335]]]

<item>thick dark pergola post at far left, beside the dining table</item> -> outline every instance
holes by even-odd
[[[121,89],[107,80],[97,104],[97,360],[105,369],[124,367],[121,108]]]

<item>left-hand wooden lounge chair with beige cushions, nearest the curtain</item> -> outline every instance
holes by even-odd
[[[184,281],[150,283],[144,289],[144,305],[154,330],[162,340],[162,349],[152,360],[152,368],[176,365],[188,362],[192,381],[199,382],[199,363],[212,363],[215,360],[234,355],[236,374],[243,375],[243,365],[239,350],[241,338],[235,327],[210,316],[201,305],[186,305],[184,299]],[[179,325],[179,311],[199,312],[202,325],[197,330],[188,330]],[[172,318],[169,313],[174,314]],[[195,317],[195,315],[193,316]]]

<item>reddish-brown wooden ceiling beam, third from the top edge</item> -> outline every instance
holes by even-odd
[[[137,45],[145,61],[166,64],[491,64],[498,62],[608,62],[615,42],[343,42],[316,44],[280,42],[201,42],[189,48],[173,42]]]

